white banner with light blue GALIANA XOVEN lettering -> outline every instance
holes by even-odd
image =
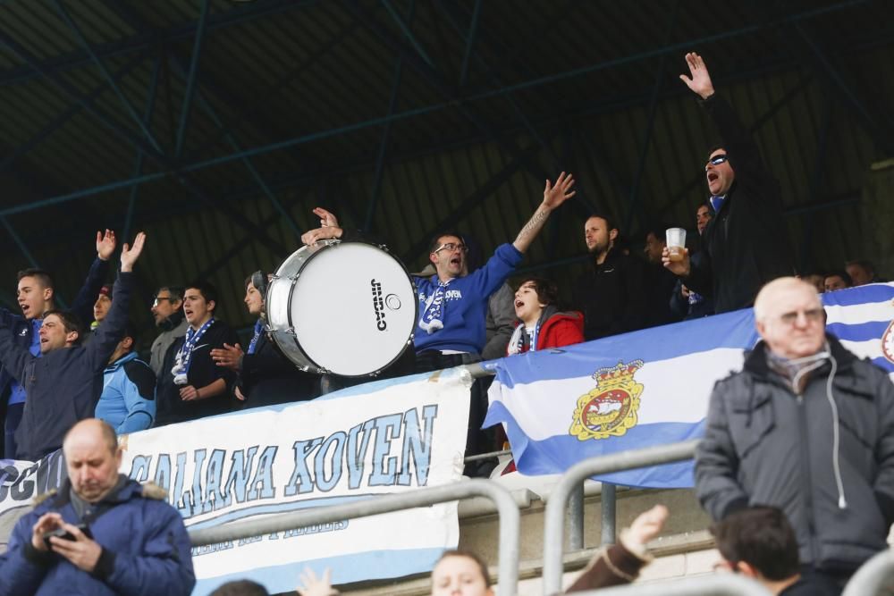
[[[458,482],[470,382],[416,375],[137,432],[122,473],[164,486],[190,529]],[[198,547],[194,593],[237,578],[286,592],[306,566],[335,583],[422,573],[458,540],[454,502]]]

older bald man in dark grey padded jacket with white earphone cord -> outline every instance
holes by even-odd
[[[755,300],[761,341],[714,386],[696,451],[696,494],[715,520],[782,509],[802,575],[839,590],[887,547],[894,521],[894,384],[825,332],[814,286],[771,281]]]

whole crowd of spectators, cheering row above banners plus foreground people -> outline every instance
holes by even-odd
[[[704,172],[710,199],[696,208],[697,234],[682,257],[671,258],[669,225],[645,231],[639,256],[609,214],[594,214],[584,223],[589,264],[573,284],[568,307],[548,279],[524,278],[513,293],[507,280],[523,254],[552,211],[574,195],[574,179],[562,172],[546,181],[543,202],[517,238],[489,259],[470,253],[474,241],[459,231],[432,239],[431,268],[414,276],[419,298],[414,346],[382,374],[514,357],[754,305],[763,341],[746,369],[714,392],[696,460],[698,495],[717,520],[713,532],[731,570],[757,578],[775,593],[808,593],[797,591],[803,583],[814,585],[809,593],[836,593],[856,567],[883,548],[894,520],[894,469],[889,469],[894,422],[888,426],[894,397],[887,377],[823,333],[817,293],[881,278],[865,260],[803,272],[800,281],[792,277],[778,217],[779,184],[736,113],[714,93],[704,61],[694,54],[686,59],[689,76],[681,79],[717,125],[721,144],[708,152]],[[305,244],[363,239],[343,229],[335,214],[322,208],[314,213],[320,227],[302,237]],[[82,583],[91,593],[102,593],[97,586],[131,593],[133,566],[145,571],[144,579],[152,573],[172,582],[179,578],[179,587],[165,593],[188,593],[194,578],[182,524],[156,511],[164,504],[117,474],[121,452],[115,433],[314,399],[349,383],[299,370],[268,337],[263,271],[245,280],[244,303],[256,318],[247,347],[216,316],[222,294],[197,280],[158,288],[151,310],[159,332],[148,358],[141,359],[128,307],[133,266],[147,243],[139,233],[132,246],[122,246],[119,273],[108,285],[118,242],[112,231],[97,233],[97,259],[70,310],[56,308],[49,273],[28,269],[18,279],[21,313],[0,312],[0,455],[36,460],[63,449],[70,478],[58,498],[16,526],[0,574],[9,593],[53,593],[52,586],[67,583]],[[487,405],[482,383],[473,387],[470,453],[492,449],[496,441],[480,430]],[[755,386],[765,388],[755,392]],[[87,420],[94,417],[104,422]],[[833,452],[811,451],[812,436],[833,437]],[[773,461],[772,451],[799,455],[785,466]],[[801,468],[815,470],[813,477],[803,485],[787,483]],[[467,468],[467,474],[482,470]],[[114,526],[90,524],[97,511],[119,509],[139,520],[147,516],[140,531],[158,532],[156,525],[166,520],[171,524],[164,530],[166,546],[130,552]],[[817,527],[813,516],[821,514],[834,521]],[[665,516],[658,509],[638,518],[575,585],[583,590],[632,581],[648,560],[645,542],[660,531]],[[70,537],[45,540],[46,533],[60,529]],[[104,532],[111,542],[103,541]],[[144,559],[148,567],[140,567]],[[328,577],[309,575],[302,581],[299,593],[332,592]],[[433,593],[458,582],[474,583],[481,589],[475,593],[490,590],[480,560],[451,552],[434,569]],[[328,592],[313,592],[317,584]]]

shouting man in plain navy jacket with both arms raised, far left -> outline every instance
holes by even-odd
[[[15,457],[37,460],[62,447],[65,432],[84,418],[92,418],[103,390],[103,371],[127,325],[133,286],[133,264],[143,250],[146,234],[140,232],[133,248],[121,251],[121,273],[114,283],[114,302],[105,323],[85,346],[83,326],[71,311],[54,310],[40,326],[40,352],[36,357],[13,340],[10,327],[0,318],[0,361],[13,377],[22,379],[28,400],[15,433]]]

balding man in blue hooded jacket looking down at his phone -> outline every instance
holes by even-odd
[[[118,473],[112,427],[80,421],[63,452],[68,479],[15,525],[0,593],[190,594],[196,578],[183,519],[164,489]]]

